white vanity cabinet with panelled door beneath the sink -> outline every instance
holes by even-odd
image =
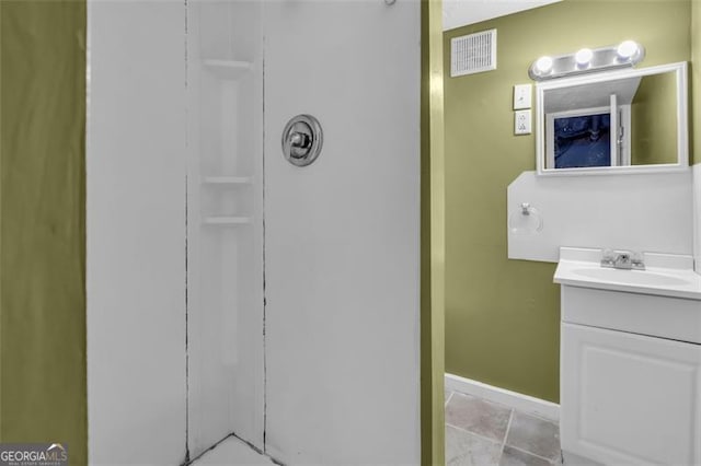
[[[701,277],[689,277],[701,295]],[[562,259],[555,282],[565,465],[701,465],[701,301],[650,283],[619,291],[608,276],[577,281]]]

